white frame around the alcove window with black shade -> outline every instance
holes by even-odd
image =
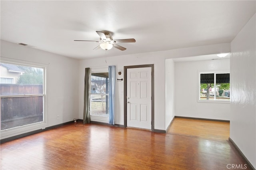
[[[226,74],[229,73],[229,70],[221,70],[221,71],[198,71],[198,95],[197,95],[197,101],[198,102],[203,102],[203,103],[230,103],[229,101],[223,101],[223,100],[216,100],[216,95],[214,94],[214,100],[200,100],[200,83],[201,83],[201,79],[200,79],[200,75],[201,74],[214,74],[214,93],[216,92],[216,74]]]

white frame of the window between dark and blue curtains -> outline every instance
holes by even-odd
[[[92,110],[91,109],[91,95],[101,95],[101,94],[91,94],[91,75],[92,75],[92,73],[107,73],[107,72],[108,72],[108,67],[90,68],[90,93],[89,93],[90,95],[89,95],[89,100],[90,100],[90,120],[91,121],[109,123],[109,117],[91,115],[91,110]]]

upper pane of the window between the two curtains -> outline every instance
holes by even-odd
[[[91,74],[91,94],[108,94],[108,73]]]

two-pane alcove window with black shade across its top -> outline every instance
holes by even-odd
[[[200,101],[230,101],[230,73],[200,73]]]

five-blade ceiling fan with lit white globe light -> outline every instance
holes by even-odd
[[[100,43],[100,45],[98,45],[94,49],[102,48],[104,50],[108,50],[108,49],[111,49],[112,47],[115,47],[115,48],[120,49],[122,51],[126,50],[126,48],[122,47],[120,45],[117,45],[116,43],[133,43],[133,42],[136,42],[136,40],[134,38],[113,40],[113,38],[112,38],[112,36],[110,36],[109,32],[96,31],[96,33],[100,36],[100,41],[91,41],[91,40],[74,40],[74,41],[98,42],[98,43]]]

